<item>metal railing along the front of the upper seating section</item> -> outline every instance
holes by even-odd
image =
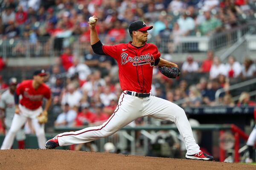
[[[217,50],[229,47],[239,40],[240,37],[247,34],[252,25],[244,25],[233,28],[210,37],[207,36],[187,36],[180,37],[180,42],[176,45],[170,37],[152,37],[149,36],[148,42],[154,43],[161,53],[187,53],[187,52],[205,52],[209,49]],[[59,56],[64,47],[73,48],[73,53],[79,56],[88,53],[90,41],[81,38],[81,36],[70,37],[38,37],[37,40],[24,38],[12,38],[9,40],[0,40],[0,56],[7,57],[55,57]],[[103,43],[109,42],[106,36],[99,35]],[[128,42],[131,37],[127,35],[122,42]],[[119,42],[113,42],[114,44]]]

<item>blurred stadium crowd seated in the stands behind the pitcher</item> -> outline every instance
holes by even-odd
[[[175,51],[183,36],[210,36],[255,19],[255,3],[256,0],[3,0],[0,38],[28,40],[35,51],[48,51],[48,42],[53,42],[59,57],[49,67],[46,79],[53,99],[49,121],[55,126],[100,125],[116,109],[122,89],[115,60],[92,51],[87,24],[90,16],[99,18],[96,29],[109,45],[126,40],[131,21],[144,20],[154,26],[150,34],[156,42],[172,40],[169,53]],[[73,35],[79,37],[85,51],[83,62],[75,54],[76,46],[70,38]],[[45,37],[45,43],[39,44],[38,40]],[[67,37],[67,41],[59,42]],[[13,51],[26,54],[22,42]],[[227,63],[222,63],[213,51],[208,51],[204,61],[197,62],[189,54],[185,62],[179,63],[182,72],[178,79],[168,79],[154,68],[151,94],[178,102],[183,108],[255,106],[255,98],[250,99],[245,91],[238,102],[232,100],[229,86],[256,76],[253,60],[246,58],[239,63],[235,58],[230,56]],[[0,89],[7,86],[0,77]],[[216,101],[215,93],[220,88],[227,91]]]

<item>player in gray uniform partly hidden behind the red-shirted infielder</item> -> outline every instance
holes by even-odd
[[[17,79],[11,78],[9,80],[9,89],[5,91],[0,100],[0,115],[1,121],[6,133],[10,130],[12,125],[12,119],[15,114],[15,102],[14,102],[14,92],[17,87]],[[16,140],[18,141],[18,148],[24,149],[25,148],[25,130],[21,128],[16,135]]]

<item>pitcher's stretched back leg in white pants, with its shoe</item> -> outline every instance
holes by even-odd
[[[54,149],[58,145],[67,146],[70,144],[86,143],[110,136],[134,119],[142,116],[141,102],[142,100],[138,97],[122,94],[115,112],[103,125],[58,134],[55,138],[46,142],[46,147],[47,149]]]

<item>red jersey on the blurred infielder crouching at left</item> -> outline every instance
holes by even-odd
[[[16,89],[17,95],[22,95],[20,104],[28,109],[35,110],[42,105],[43,97],[51,97],[50,88],[46,84],[41,84],[38,89],[33,88],[32,79],[21,82]]]

